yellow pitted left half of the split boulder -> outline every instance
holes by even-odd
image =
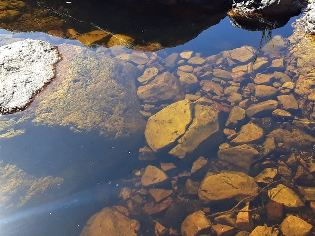
[[[148,119],[145,136],[148,145],[157,152],[173,144],[192,121],[192,103],[175,102]]]

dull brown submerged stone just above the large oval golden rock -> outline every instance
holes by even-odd
[[[218,151],[218,158],[222,161],[250,170],[251,164],[260,158],[260,153],[248,144],[225,148]]]

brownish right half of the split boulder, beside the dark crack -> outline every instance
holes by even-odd
[[[214,137],[219,132],[219,111],[213,106],[195,106],[195,115],[192,124],[186,133],[177,142],[178,144],[169,152],[178,158],[184,158],[192,153],[203,141]],[[213,142],[216,143],[216,142]]]

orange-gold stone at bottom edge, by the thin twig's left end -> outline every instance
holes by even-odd
[[[181,226],[182,236],[197,236],[198,233],[209,229],[211,222],[201,210],[196,211],[185,218]]]

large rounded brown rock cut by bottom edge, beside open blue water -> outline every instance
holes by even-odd
[[[80,236],[137,236],[136,231],[140,229],[140,224],[128,216],[129,212],[125,207],[105,207],[90,217]]]

